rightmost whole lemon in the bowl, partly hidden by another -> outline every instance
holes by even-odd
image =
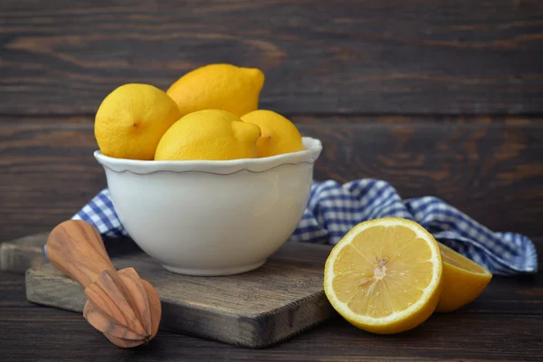
[[[242,116],[262,130],[258,139],[258,157],[270,157],[303,149],[300,131],[289,120],[271,110],[253,110]]]

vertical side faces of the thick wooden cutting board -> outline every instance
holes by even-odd
[[[26,271],[25,285],[26,298],[33,303],[82,313],[86,297],[81,285],[60,271],[56,271],[51,264]],[[54,295],[54,298],[51,298],[51,295]],[[65,297],[62,298],[62,296]],[[61,298],[60,301],[59,298]],[[219,310],[196,307],[194,304],[184,301],[174,302],[168,298],[161,299],[161,301],[163,303],[161,330],[244,348],[271,347],[299,335],[333,316],[333,309],[329,305],[324,291],[319,291],[274,310],[246,316],[224,313],[224,310],[219,312]],[[323,303],[326,304],[323,305]],[[213,320],[214,323],[205,323],[206,319]],[[221,324],[235,327],[218,331],[217,325]],[[288,325],[289,329],[275,328],[279,324],[283,327]]]

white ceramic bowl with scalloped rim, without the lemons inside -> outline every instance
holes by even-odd
[[[168,271],[251,271],[285,243],[307,205],[322,145],[274,157],[139,161],[94,157],[130,237]]]

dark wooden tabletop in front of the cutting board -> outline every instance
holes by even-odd
[[[543,238],[534,242],[538,251],[543,250]],[[24,278],[0,272],[0,360],[540,361],[542,291],[539,275],[497,276],[468,306],[434,314],[419,328],[395,336],[373,335],[334,318],[271,348],[238,348],[159,330],[147,347],[127,350],[111,345],[81,314],[26,301]]]

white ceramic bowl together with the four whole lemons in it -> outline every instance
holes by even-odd
[[[251,271],[299,223],[322,146],[258,110],[263,82],[259,69],[209,64],[166,92],[130,84],[100,105],[94,156],[115,211],[167,270]]]

